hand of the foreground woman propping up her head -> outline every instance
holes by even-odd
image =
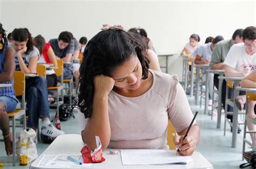
[[[95,93],[100,95],[109,95],[114,87],[114,79],[109,76],[98,75],[94,78]]]

